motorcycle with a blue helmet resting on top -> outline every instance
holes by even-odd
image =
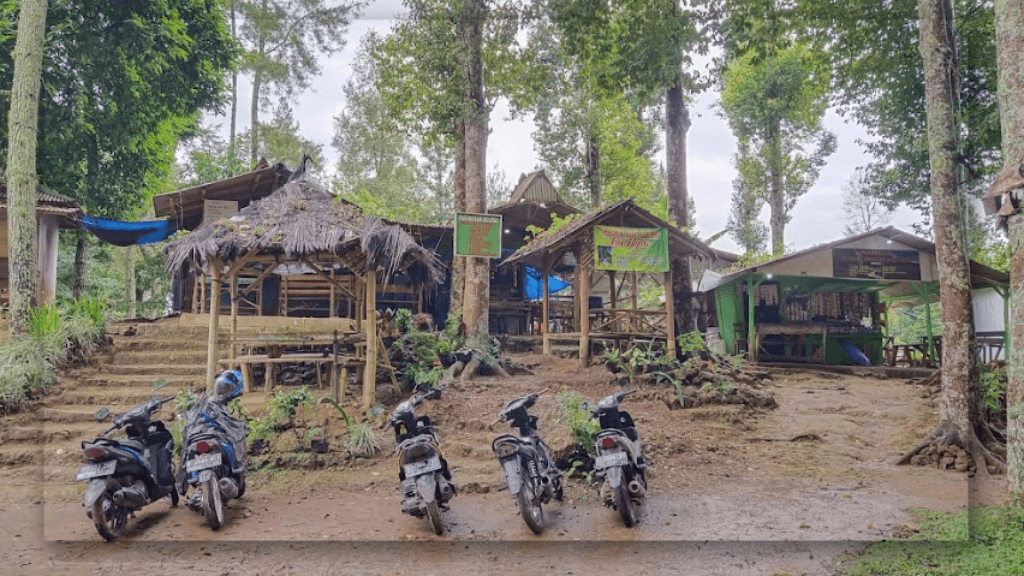
[[[227,403],[242,396],[242,373],[228,370],[217,375],[214,396],[203,393],[185,412],[181,434],[178,488],[185,505],[202,512],[211,530],[224,525],[224,501],[246,492],[246,422],[231,416]]]

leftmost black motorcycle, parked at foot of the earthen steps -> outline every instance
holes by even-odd
[[[78,469],[77,482],[86,482],[86,516],[96,525],[104,540],[114,540],[124,533],[129,515],[142,506],[170,496],[177,505],[171,458],[174,437],[160,420],[151,420],[154,413],[173,400],[154,398],[114,418],[102,436],[82,442],[82,456],[90,462]],[[96,413],[103,419],[110,411]],[[125,428],[127,440],[112,440],[108,434]]]

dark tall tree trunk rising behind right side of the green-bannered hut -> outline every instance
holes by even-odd
[[[667,186],[669,197],[669,221],[680,228],[690,225],[689,193],[686,190],[686,133],[690,129],[690,115],[683,99],[682,71],[676,75],[676,83],[665,96],[665,117],[668,128],[665,134],[667,160]],[[673,299],[675,300],[678,332],[691,332],[693,306],[690,290],[690,259],[676,260],[673,274]]]

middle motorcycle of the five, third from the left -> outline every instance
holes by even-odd
[[[402,402],[388,417],[384,429],[394,428],[395,452],[398,454],[398,482],[401,487],[401,511],[416,518],[427,517],[434,533],[444,533],[441,508],[455,497],[458,487],[452,482],[447,461],[438,449],[437,431],[429,416],[417,416],[416,407],[424,400],[440,398],[440,390],[414,395]]]

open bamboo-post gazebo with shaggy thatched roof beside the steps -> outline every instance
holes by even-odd
[[[283,264],[300,264],[326,278],[335,290],[356,302],[356,331],[365,331],[367,365],[364,403],[372,403],[376,385],[378,282],[387,284],[404,273],[414,284],[434,286],[442,266],[401,228],[367,216],[355,205],[337,198],[298,170],[270,196],[252,202],[237,214],[207,222],[172,241],[165,250],[167,269],[181,274],[189,266],[212,279],[207,385],[212,386],[218,358],[221,285],[229,283],[232,340],[238,327],[239,276],[255,278],[255,289]],[[336,272],[355,278],[338,282]],[[361,321],[361,322],[360,322]]]

